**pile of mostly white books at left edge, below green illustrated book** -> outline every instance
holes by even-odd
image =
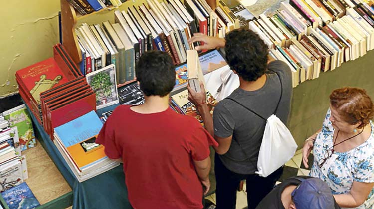
[[[0,191],[21,184],[28,178],[26,158],[21,156],[17,126],[0,132]]]

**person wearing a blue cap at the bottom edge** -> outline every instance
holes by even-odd
[[[277,185],[256,209],[340,209],[329,186],[318,178],[296,176]]]

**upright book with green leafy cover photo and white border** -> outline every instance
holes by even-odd
[[[114,64],[86,75],[87,83],[96,93],[97,109],[119,103]]]

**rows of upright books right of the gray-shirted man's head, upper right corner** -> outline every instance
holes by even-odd
[[[374,48],[374,7],[360,0],[290,0],[250,21],[249,29],[287,63],[296,87]]]

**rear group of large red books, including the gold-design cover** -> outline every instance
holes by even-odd
[[[53,57],[18,70],[15,77],[20,96],[40,124],[43,124],[40,93],[83,78],[60,44],[53,46]]]

